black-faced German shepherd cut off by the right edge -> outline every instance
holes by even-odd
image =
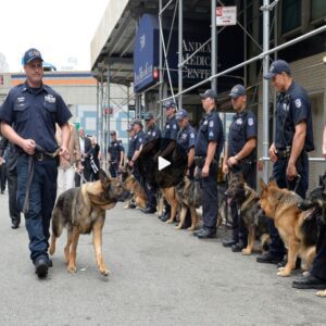
[[[313,189],[310,192],[309,198],[299,204],[299,209],[302,211],[310,210],[312,212],[310,215],[312,216],[311,218],[314,218],[314,216],[319,216],[321,222],[324,224],[321,224],[321,228],[326,227],[326,173],[323,176],[319,176],[319,186]],[[318,246],[321,244],[322,243],[317,242],[317,251]],[[316,294],[318,297],[326,297],[326,290],[317,291]]]

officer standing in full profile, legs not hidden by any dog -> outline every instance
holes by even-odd
[[[197,134],[195,161],[199,168],[203,190],[203,227],[193,234],[200,239],[208,239],[216,236],[217,168],[224,134],[222,121],[215,106],[216,92],[213,89],[208,89],[200,97],[205,115]]]

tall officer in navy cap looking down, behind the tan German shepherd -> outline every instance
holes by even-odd
[[[274,141],[269,158],[274,162],[273,178],[280,188],[294,190],[302,198],[309,186],[309,161],[306,152],[314,149],[311,105],[306,91],[297,85],[289,64],[274,61],[264,76],[272,79],[279,91],[275,116]],[[273,220],[268,218],[272,238],[269,250],[258,256],[260,263],[279,263],[285,254],[284,243]]]

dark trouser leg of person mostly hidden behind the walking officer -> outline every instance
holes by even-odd
[[[21,211],[17,205],[17,170],[16,167],[7,170],[8,193],[9,193],[9,215],[12,224],[21,223]]]

